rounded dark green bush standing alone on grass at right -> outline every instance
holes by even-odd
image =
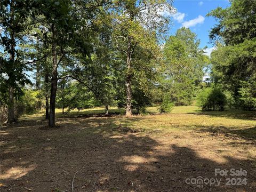
[[[202,110],[224,110],[226,95],[218,87],[207,87],[197,96],[197,106]]]

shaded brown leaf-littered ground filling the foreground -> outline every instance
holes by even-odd
[[[111,127],[118,126],[114,118],[60,121],[58,130],[39,130],[42,122],[26,122],[3,130],[6,134],[1,134],[1,141],[6,143],[1,147],[0,182],[6,186],[1,191],[72,191],[73,181],[74,191],[256,189],[255,161],[225,156],[223,162],[217,162],[179,143],[163,143],[147,134],[113,131]],[[215,168],[242,168],[248,172],[248,184],[226,186],[225,177],[214,175]],[[222,181],[219,187],[186,183],[186,179],[197,177]]]

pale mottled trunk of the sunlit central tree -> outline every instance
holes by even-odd
[[[126,75],[126,114],[125,116],[131,116],[132,115],[132,90],[131,90],[131,80],[132,80],[132,74],[131,74],[131,40],[130,37],[128,37],[128,49],[126,54],[126,66],[127,66],[127,75]]]

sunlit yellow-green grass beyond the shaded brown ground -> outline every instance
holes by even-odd
[[[256,114],[255,111],[204,111],[202,112],[196,106],[177,106],[173,107],[170,114],[159,114],[158,107],[148,107],[149,114],[146,116],[133,116],[126,118],[117,116],[111,119],[95,118],[96,122],[111,124],[108,126],[119,125],[129,126],[142,132],[170,132],[174,130],[190,130],[204,132],[221,132],[239,137],[254,139],[256,135]],[[124,114],[124,109],[110,107],[112,114]],[[104,114],[105,108],[97,107],[90,109],[71,110],[68,114],[62,115],[62,109],[56,109],[56,116],[59,117],[91,117],[93,114]],[[21,119],[42,119],[44,111],[34,115],[23,115]]]

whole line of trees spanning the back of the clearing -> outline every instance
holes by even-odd
[[[188,28],[167,37],[176,11],[171,1],[1,0],[0,7],[0,99],[9,123],[17,121],[19,103],[26,110],[43,106],[51,127],[55,107],[67,113],[105,106],[108,114],[109,106],[118,106],[131,116],[145,113],[151,103],[162,103],[162,112],[191,105],[197,95],[207,109],[207,94],[218,93],[225,94],[221,105],[230,100],[232,106],[255,108],[251,1],[209,13],[219,19],[210,33],[216,47],[211,58]],[[210,78],[203,81],[209,68]],[[203,94],[209,87],[220,91]],[[211,98],[214,106],[221,97]]]

